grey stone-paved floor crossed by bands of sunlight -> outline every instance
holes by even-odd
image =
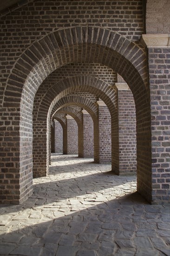
[[[53,155],[22,205],[1,206],[0,255],[170,256],[170,211],[151,206],[135,176],[90,158]]]

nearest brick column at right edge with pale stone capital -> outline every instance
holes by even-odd
[[[149,48],[152,204],[166,204],[170,202],[170,36],[143,38]]]

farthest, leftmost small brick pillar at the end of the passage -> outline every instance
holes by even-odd
[[[57,120],[55,120],[55,153],[63,153],[63,128]]]

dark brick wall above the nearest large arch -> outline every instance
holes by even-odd
[[[2,91],[21,53],[34,41],[61,27],[101,26],[135,41],[144,32],[141,0],[34,0],[5,14],[0,22]]]

